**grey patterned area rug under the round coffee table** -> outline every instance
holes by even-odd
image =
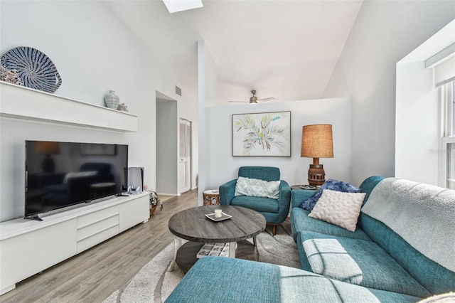
[[[300,268],[299,254],[291,237],[289,220],[277,228],[277,235],[274,237],[269,228],[257,235],[257,249],[260,262]],[[164,302],[184,275],[178,266],[173,272],[168,272],[172,257],[173,243],[161,250],[127,285],[113,292],[104,303]]]

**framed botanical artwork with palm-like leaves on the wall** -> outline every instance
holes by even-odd
[[[291,112],[232,115],[232,156],[291,156]]]

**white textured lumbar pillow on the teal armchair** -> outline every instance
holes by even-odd
[[[235,184],[235,196],[254,196],[277,199],[280,181],[264,181],[239,177]]]

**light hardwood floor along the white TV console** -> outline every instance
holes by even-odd
[[[178,211],[198,206],[198,191],[163,205],[163,211],[156,211],[147,223],[19,282],[0,302],[102,302],[173,241],[168,220]]]

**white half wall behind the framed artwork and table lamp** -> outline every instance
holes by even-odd
[[[232,156],[233,114],[282,111],[291,111],[291,156]],[[210,127],[206,133],[210,142],[210,158],[205,189],[218,188],[235,179],[240,166],[277,166],[282,179],[289,185],[308,184],[308,169],[313,159],[300,157],[301,129],[307,124],[333,125],[334,157],[321,158],[319,163],[324,166],[326,179],[349,182],[350,111],[349,98],[208,108],[206,118]]]

